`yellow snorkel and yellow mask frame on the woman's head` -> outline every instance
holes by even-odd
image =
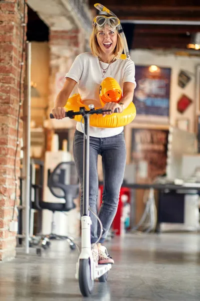
[[[110,18],[110,20],[111,20],[111,18],[116,18],[116,20],[119,21],[119,19],[116,17],[116,15],[114,15],[110,10],[108,10],[102,4],[96,3],[96,4],[94,4],[94,7],[98,11],[103,12],[103,13],[105,12],[106,14],[108,14],[109,16],[107,16],[107,18]],[[98,16],[100,17],[100,15],[98,15]],[[102,17],[104,17],[104,20],[105,20],[105,16],[102,16]],[[95,21],[95,18],[94,18],[93,22]],[[102,27],[102,25],[101,25],[101,27]],[[117,24],[115,26],[115,28],[117,29],[117,32],[119,33],[119,35],[121,36],[121,39],[123,41],[123,52],[124,52],[124,54],[118,55],[117,58],[122,59],[122,60],[124,60],[124,59],[129,60],[130,59],[130,54],[129,54],[129,50],[128,50],[128,45],[127,45],[127,41],[126,41],[126,38],[125,38],[125,35],[124,35],[124,32],[123,32],[123,29],[121,27],[120,21],[119,21],[119,24]]]

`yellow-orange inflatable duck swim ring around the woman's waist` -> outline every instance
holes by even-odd
[[[121,88],[117,81],[111,77],[106,77],[100,85],[99,88],[99,98],[102,108],[106,102],[120,102],[122,96]],[[86,110],[89,110],[89,107],[85,105],[79,94],[72,95],[65,104],[64,108],[66,111],[79,111],[79,108],[84,106]],[[98,109],[98,108],[95,108]],[[136,109],[134,104],[131,102],[122,113],[113,113],[111,115],[105,115],[102,117],[99,115],[90,115],[89,124],[96,127],[119,127],[130,123],[136,115]],[[77,115],[74,119],[78,122],[81,121],[82,116]]]

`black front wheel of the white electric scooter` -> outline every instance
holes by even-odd
[[[91,280],[90,260],[80,259],[78,270],[78,282],[80,292],[84,297],[88,297],[93,290],[93,280]]]

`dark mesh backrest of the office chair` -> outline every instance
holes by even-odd
[[[64,199],[65,210],[75,208],[73,200],[79,195],[79,180],[73,161],[61,162],[50,173],[48,188],[53,196]]]

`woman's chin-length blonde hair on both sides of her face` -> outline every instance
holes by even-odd
[[[89,47],[91,49],[91,52],[94,56],[99,57],[101,54],[101,49],[100,46],[98,45],[97,39],[96,39],[96,35],[98,33],[98,28],[97,26],[95,26],[93,28],[93,31],[91,33],[90,39],[89,39]],[[119,35],[119,33],[117,32],[117,41],[116,41],[116,46],[114,48],[113,54],[116,57],[118,54],[121,54],[123,51],[123,43],[122,43],[122,39]]]

